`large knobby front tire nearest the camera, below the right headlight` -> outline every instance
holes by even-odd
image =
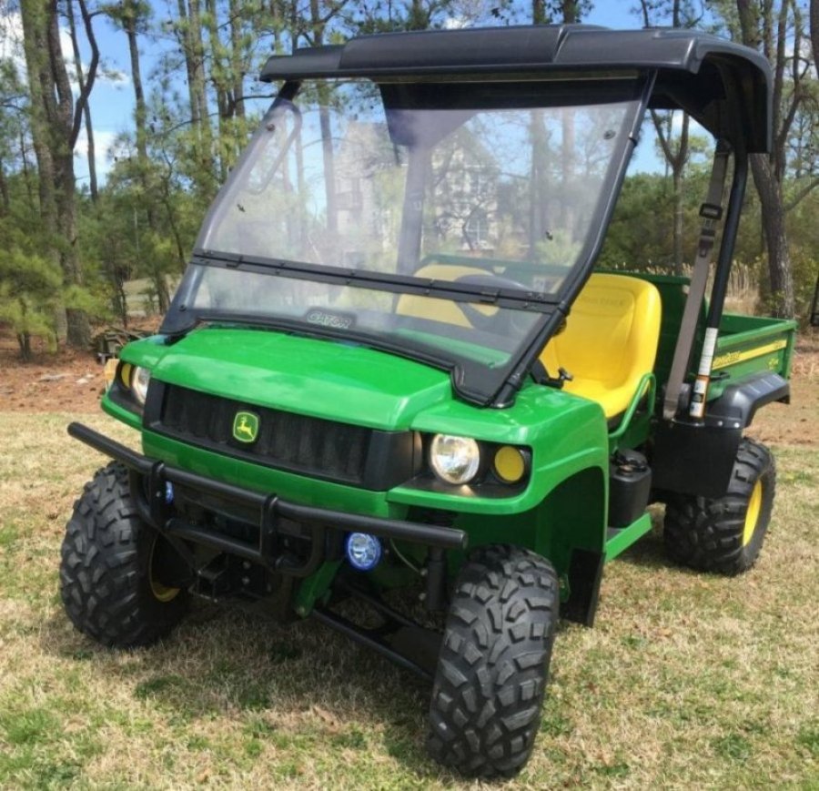
[[[430,704],[430,756],[467,776],[512,776],[541,722],[558,618],[540,555],[480,547],[460,572]]]

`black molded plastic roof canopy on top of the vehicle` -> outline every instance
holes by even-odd
[[[312,77],[616,76],[656,72],[651,106],[680,108],[749,152],[771,139],[770,66],[758,52],[696,30],[531,25],[366,35],[272,56],[267,82]]]

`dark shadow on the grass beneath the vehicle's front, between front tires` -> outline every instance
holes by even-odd
[[[431,686],[313,620],[282,625],[195,601],[166,640],[116,650],[78,633],[60,610],[40,640],[89,683],[129,688],[137,713],[147,707],[183,726],[238,715],[251,741],[311,755],[375,748],[419,777],[456,779],[425,752]]]

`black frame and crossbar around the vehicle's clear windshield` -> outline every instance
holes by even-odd
[[[495,288],[482,283],[426,279],[414,275],[249,256],[205,248],[202,242],[207,239],[210,229],[214,227],[221,213],[225,210],[232,195],[233,186],[238,179],[245,177],[248,167],[252,167],[260,129],[245,152],[239,157],[237,166],[227,178],[225,185],[220,189],[217,198],[207,212],[207,217],[197,238],[197,248],[194,249],[193,259],[191,260],[192,266],[189,267],[186,276],[180,283],[160,332],[170,336],[180,336],[193,330],[197,324],[203,322],[240,322],[250,325],[269,326],[288,332],[299,332],[308,336],[351,340],[413,360],[419,360],[444,370],[450,370],[453,389],[464,401],[480,406],[504,407],[510,405],[514,400],[515,392],[520,389],[543,346],[551,335],[561,327],[563,320],[568,315],[571,303],[591,274],[593,262],[602,247],[602,238],[606,228],[608,228],[613,205],[622,187],[626,166],[636,144],[637,131],[642,124],[655,76],[655,72],[630,71],[612,75],[610,80],[601,80],[599,75],[592,80],[588,76],[580,74],[575,75],[572,79],[554,79],[551,76],[550,79],[536,81],[545,84],[538,106],[547,107],[558,102],[565,104],[567,96],[571,96],[571,104],[577,106],[590,104],[594,99],[599,101],[601,96],[608,96],[610,101],[616,99],[629,102],[623,121],[624,133],[622,139],[618,140],[618,146],[613,152],[606,177],[602,182],[600,198],[591,218],[589,232],[587,237],[583,239],[577,259],[571,268],[565,272],[560,286],[553,293],[508,288],[509,284],[504,284],[502,288]],[[379,80],[382,96],[384,96],[385,88],[388,91],[392,90],[394,93],[399,93],[402,89],[400,85],[393,87],[395,86],[393,83],[387,86],[383,85],[383,82],[383,80]],[[424,82],[428,81],[425,80]],[[440,82],[451,86],[456,81],[449,78],[441,79]],[[487,81],[485,77],[481,77],[478,82],[487,82],[490,86],[499,85],[497,82]],[[472,85],[474,85],[474,82],[472,82]],[[547,86],[553,88],[551,94]],[[624,86],[629,88],[628,96],[626,96]],[[285,83],[265,117],[267,118],[283,102],[291,102],[298,96],[299,88],[300,83]],[[263,119],[261,127],[263,128],[264,125],[265,120]],[[401,339],[401,342],[398,343],[396,338],[379,337],[376,332],[357,331],[351,333],[349,329],[339,331],[331,327],[319,328],[316,325],[302,324],[298,320],[274,315],[245,316],[236,313],[226,314],[221,310],[191,309],[191,297],[196,291],[197,279],[201,278],[201,267],[248,270],[288,279],[326,282],[332,285],[374,289],[395,294],[420,295],[455,302],[490,304],[502,309],[533,311],[540,314],[540,318],[536,319],[531,329],[521,337],[517,347],[511,352],[510,359],[502,366],[492,369],[490,377],[488,368],[475,360],[469,360],[457,354],[448,355],[443,348],[433,348],[425,344],[413,343],[406,338]]]

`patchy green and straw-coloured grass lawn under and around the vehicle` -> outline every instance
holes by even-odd
[[[319,624],[199,603],[148,650],[76,633],[59,548],[105,460],[69,420],[0,412],[0,787],[460,785],[424,753],[429,689]],[[735,579],[671,566],[658,513],[607,567],[597,625],[561,625],[512,787],[819,788],[819,441],[771,444],[758,565]]]

